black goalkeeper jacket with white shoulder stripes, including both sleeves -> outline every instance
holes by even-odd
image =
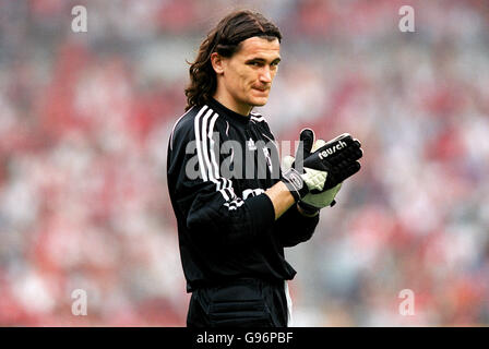
[[[293,205],[275,220],[264,194],[279,181],[274,142],[262,116],[214,99],[177,120],[167,176],[189,292],[239,277],[294,278],[284,248],[309,240],[319,215],[305,217]]]

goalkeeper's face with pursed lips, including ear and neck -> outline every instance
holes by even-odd
[[[223,59],[217,91],[238,110],[264,106],[281,61],[279,50],[276,38],[269,41],[254,36],[241,41],[232,57]]]

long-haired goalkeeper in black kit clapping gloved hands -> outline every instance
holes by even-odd
[[[169,139],[167,178],[192,292],[191,327],[290,325],[287,280],[296,270],[284,248],[312,237],[320,209],[333,205],[342,183],[360,169],[360,143],[349,134],[326,143],[303,130],[283,169],[278,152],[264,146],[274,136],[252,109],[267,101],[281,39],[261,14],[232,12],[208,33],[190,67],[187,112]],[[216,151],[227,141],[238,145],[228,164]],[[257,166],[248,166],[250,158]],[[237,176],[224,173],[224,165]]]

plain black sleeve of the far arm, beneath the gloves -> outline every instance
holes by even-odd
[[[299,213],[294,204],[278,218],[274,229],[284,248],[291,248],[312,238],[319,222],[319,216],[306,217]]]

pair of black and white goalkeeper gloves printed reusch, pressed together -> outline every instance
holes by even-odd
[[[344,133],[327,143],[319,140],[314,144],[314,132],[310,129],[302,130],[300,141],[296,158],[291,156],[284,158],[283,181],[296,201],[301,200],[309,192],[318,194],[332,189],[329,194],[324,194],[321,198],[314,197],[312,202],[317,205],[323,204],[327,197],[332,196],[331,204],[341,183],[360,169],[360,163],[357,161],[362,156],[360,143]],[[303,160],[300,161],[300,159]]]

